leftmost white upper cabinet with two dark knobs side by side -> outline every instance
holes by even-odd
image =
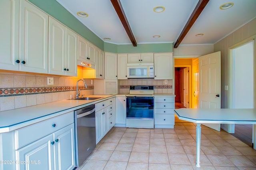
[[[1,68],[48,73],[48,15],[25,0],[2,0],[0,14]]]

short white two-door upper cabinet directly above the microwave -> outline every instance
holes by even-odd
[[[154,63],[154,53],[128,54],[127,63]]]

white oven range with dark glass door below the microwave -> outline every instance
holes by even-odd
[[[126,95],[126,127],[154,128],[154,86],[130,86]]]

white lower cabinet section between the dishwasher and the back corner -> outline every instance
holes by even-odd
[[[113,104],[115,98],[110,98],[95,104],[96,144],[113,127]]]

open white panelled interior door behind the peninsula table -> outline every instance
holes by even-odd
[[[198,108],[220,108],[221,67],[220,51],[198,57],[199,63],[199,99]],[[220,131],[220,124],[204,124]]]

